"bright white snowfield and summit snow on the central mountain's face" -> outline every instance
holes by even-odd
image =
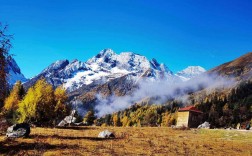
[[[116,54],[111,49],[104,49],[85,63],[87,70],[76,73],[66,81],[64,87],[72,91],[82,85],[98,81],[105,83],[129,73],[134,73],[138,77],[149,69],[155,73],[152,78],[160,78],[160,73],[163,73],[163,77],[171,76],[171,72],[165,65],[160,65],[157,61],[155,65],[153,64],[153,61],[132,52]]]

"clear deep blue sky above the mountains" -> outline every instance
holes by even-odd
[[[0,0],[0,21],[26,77],[104,48],[156,58],[172,71],[211,69],[252,51],[250,0]]]

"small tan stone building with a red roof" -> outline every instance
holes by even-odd
[[[177,127],[197,128],[202,123],[202,114],[194,106],[187,106],[178,110]]]

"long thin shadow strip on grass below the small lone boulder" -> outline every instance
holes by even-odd
[[[92,140],[92,141],[104,141],[104,140],[118,140],[121,138],[98,138],[98,137],[79,137],[79,136],[60,136],[60,135],[49,135],[49,136],[45,136],[45,135],[30,135],[29,138],[39,138],[39,139],[47,139],[47,138],[52,138],[52,139],[67,139],[67,140],[80,140],[80,139],[84,139],[84,140]]]

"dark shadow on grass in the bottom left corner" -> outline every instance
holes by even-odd
[[[19,152],[27,151],[27,150],[35,150],[38,152],[45,152],[47,150],[60,150],[60,149],[76,149],[78,146],[76,145],[51,145],[48,143],[43,142],[33,142],[33,143],[26,143],[26,142],[18,142],[14,139],[6,139],[0,142],[0,154],[4,155],[16,155]]]

